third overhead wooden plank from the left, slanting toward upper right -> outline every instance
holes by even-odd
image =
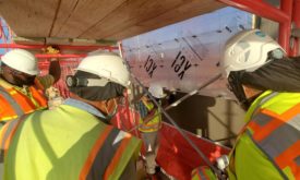
[[[200,1],[200,0],[197,0]],[[207,0],[206,0],[207,1]],[[112,34],[128,31],[131,26],[140,24],[148,20],[159,20],[157,16],[166,12],[172,11],[185,3],[191,3],[192,0],[129,0],[123,3],[113,12],[108,14],[104,20],[96,24],[93,28],[89,28],[80,37],[109,37]],[[201,1],[202,2],[202,1]],[[179,14],[177,14],[179,15]],[[177,15],[173,19],[177,19]],[[147,27],[147,31],[155,29]],[[144,32],[141,32],[144,33]]]

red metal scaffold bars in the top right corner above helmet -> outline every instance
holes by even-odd
[[[291,28],[300,27],[300,0],[281,0],[279,8],[275,8],[262,0],[218,0],[237,9],[248,11],[261,17],[279,23],[278,43],[289,56],[299,53],[299,38],[292,38]]]

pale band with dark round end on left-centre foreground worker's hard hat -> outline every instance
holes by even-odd
[[[67,75],[65,84],[68,87],[91,87],[91,86],[106,86],[109,81],[106,79],[86,79],[74,75]]]

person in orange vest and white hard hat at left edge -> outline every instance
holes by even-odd
[[[14,49],[1,57],[0,123],[24,113],[47,107],[44,92],[60,79],[60,65],[52,58],[49,74],[37,76],[37,59],[23,49]]]

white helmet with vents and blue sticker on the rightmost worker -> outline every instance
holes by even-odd
[[[231,71],[255,71],[267,62],[268,52],[277,50],[281,56],[285,50],[259,29],[242,31],[232,36],[225,46],[221,67],[224,75]]]

